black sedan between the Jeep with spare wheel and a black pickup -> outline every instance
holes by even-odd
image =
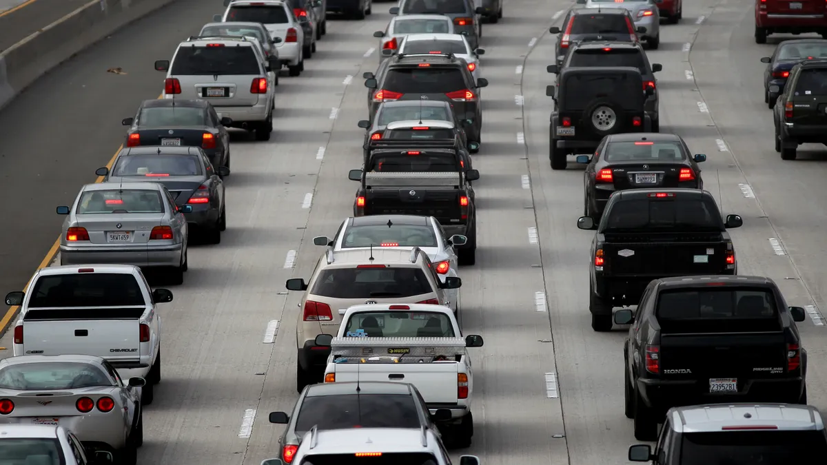
[[[577,156],[588,163],[583,175],[584,215],[600,221],[609,195],[624,189],[704,189],[698,163],[676,134],[612,134],[600,141],[595,156]]]

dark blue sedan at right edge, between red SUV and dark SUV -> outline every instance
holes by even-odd
[[[767,63],[764,70],[764,103],[772,109],[778,96],[784,91],[786,78],[793,66],[804,60],[824,60],[827,58],[827,40],[796,39],[778,44],[772,56],[765,56],[762,63]],[[770,92],[770,86],[777,85],[778,92]]]

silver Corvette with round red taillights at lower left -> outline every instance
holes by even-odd
[[[72,431],[85,448],[134,465],[143,443],[143,378],[121,380],[102,357],[24,355],[0,360],[0,424]]]

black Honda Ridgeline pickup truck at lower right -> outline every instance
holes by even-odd
[[[761,276],[653,280],[638,309],[614,314],[632,324],[624,347],[625,410],[634,437],[657,439],[672,407],[717,403],[806,404],[807,352],[778,286]]]

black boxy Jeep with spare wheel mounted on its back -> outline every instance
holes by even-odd
[[[644,90],[645,89],[645,90]],[[570,153],[594,153],[603,137],[623,132],[652,132],[637,68],[566,68],[546,94],[557,103],[549,127],[552,170],[566,169]]]

